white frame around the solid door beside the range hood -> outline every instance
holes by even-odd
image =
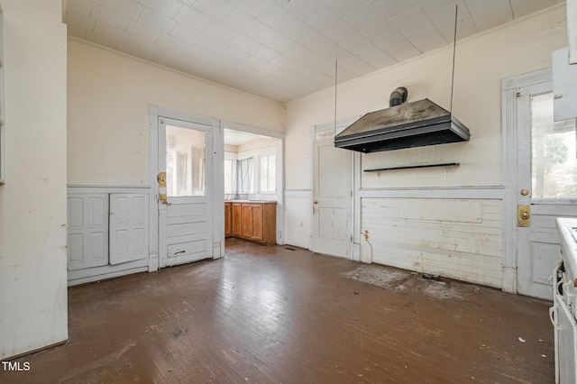
[[[310,128],[310,149],[309,153],[310,156],[310,194],[308,197],[308,206],[313,206],[313,198],[315,196],[315,180],[314,180],[314,173],[313,169],[315,167],[315,159],[314,159],[314,147],[316,140],[322,140],[328,138],[326,136],[328,133],[332,133],[331,138],[338,133],[343,132],[345,128],[347,128],[352,123],[359,120],[361,116],[355,115],[352,117],[343,118],[341,120],[337,120],[336,122],[332,123],[324,123],[319,125],[314,125]],[[346,150],[344,150],[346,151]],[[351,186],[353,190],[353,196],[351,197],[351,219],[353,220],[353,225],[351,226],[352,232],[351,235],[353,236],[353,240],[351,241],[351,260],[353,261],[361,261],[361,197],[359,196],[359,189],[361,188],[361,153],[357,151],[353,151],[353,156],[351,157]],[[312,215],[309,216],[309,228],[310,228],[310,235],[308,240],[308,249],[313,251],[315,249],[314,244],[314,231],[315,231],[315,217]],[[364,261],[364,260],[363,260]],[[371,261],[365,261],[371,262]]]

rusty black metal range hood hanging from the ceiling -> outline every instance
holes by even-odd
[[[398,104],[391,94],[389,108],[363,115],[334,137],[334,146],[363,153],[400,150],[448,142],[466,142],[470,133],[444,108],[429,99]],[[398,95],[397,95],[398,96]]]

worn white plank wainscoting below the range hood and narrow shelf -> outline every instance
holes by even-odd
[[[361,189],[362,260],[501,288],[502,192]]]

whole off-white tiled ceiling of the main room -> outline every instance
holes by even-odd
[[[69,35],[286,103],[563,0],[69,0]]]

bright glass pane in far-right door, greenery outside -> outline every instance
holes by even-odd
[[[553,121],[553,94],[531,98],[533,198],[577,197],[575,121]]]

